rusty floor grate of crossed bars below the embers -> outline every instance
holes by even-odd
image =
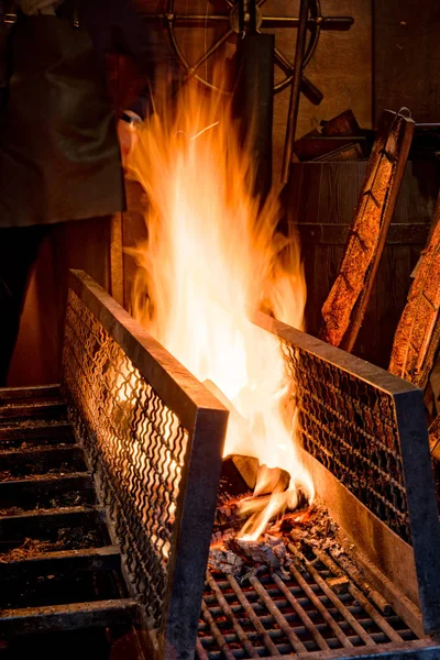
[[[208,573],[198,660],[326,650],[343,658],[351,648],[418,639],[389,606],[385,616],[351,581],[341,593],[331,582],[337,573],[316,558],[306,563],[295,562],[287,579],[265,572],[242,584]]]

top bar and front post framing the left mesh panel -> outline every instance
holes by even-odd
[[[91,277],[73,271],[69,286],[188,432],[162,629],[147,632],[154,657],[173,654],[189,660],[194,656],[229,413]],[[130,563],[130,557],[125,563]]]

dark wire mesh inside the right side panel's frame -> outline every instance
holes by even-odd
[[[284,351],[304,448],[410,543],[393,395],[304,349]]]

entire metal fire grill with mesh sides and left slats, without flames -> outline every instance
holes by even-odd
[[[61,387],[0,396],[2,657],[440,657],[421,392],[254,322],[283,344],[317,497],[250,542],[218,526],[227,408],[72,275]]]

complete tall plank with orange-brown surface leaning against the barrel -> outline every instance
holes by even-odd
[[[403,179],[414,121],[386,110],[380,121],[339,275],[322,307],[320,338],[351,351],[361,328]]]

